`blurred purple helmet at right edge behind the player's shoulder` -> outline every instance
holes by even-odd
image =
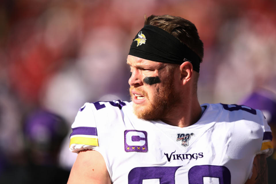
[[[239,104],[259,109],[268,123],[276,124],[276,94],[267,89],[257,89],[241,100]]]

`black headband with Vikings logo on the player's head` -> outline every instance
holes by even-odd
[[[162,63],[191,62],[199,72],[200,57],[172,34],[156,26],[145,25],[135,36],[129,55]]]

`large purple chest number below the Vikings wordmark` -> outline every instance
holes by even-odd
[[[175,184],[175,172],[181,167],[135,167],[129,172],[129,184],[142,184],[144,179],[159,179],[160,184]],[[219,184],[230,184],[231,174],[225,166],[199,165],[188,172],[188,184],[204,184],[203,177],[218,178]]]

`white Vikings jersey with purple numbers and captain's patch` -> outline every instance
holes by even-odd
[[[202,104],[189,127],[141,120],[132,102],[85,103],[70,136],[70,150],[101,153],[111,182],[245,183],[256,154],[271,154],[271,130],[262,112],[246,106]]]

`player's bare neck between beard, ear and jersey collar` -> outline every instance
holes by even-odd
[[[185,103],[179,103],[161,120],[177,127],[188,127],[196,123],[201,116],[201,107],[197,97],[191,97]]]

